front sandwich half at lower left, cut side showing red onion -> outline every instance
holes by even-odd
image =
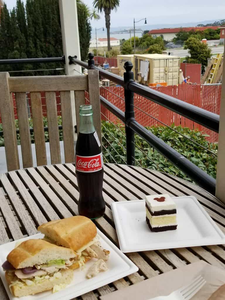
[[[53,288],[64,288],[73,279],[73,264],[77,254],[42,239],[29,239],[14,248],[2,268],[10,292],[16,296],[32,295]]]

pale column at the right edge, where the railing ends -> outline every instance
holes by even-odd
[[[220,128],[218,141],[216,197],[225,203],[225,43],[223,53],[223,82],[220,103]]]

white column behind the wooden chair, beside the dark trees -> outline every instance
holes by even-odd
[[[80,60],[80,43],[79,31],[77,20],[76,0],[59,0],[61,31],[62,31],[62,44],[63,53],[66,60],[66,75],[77,76],[81,73],[81,67],[75,64],[69,64],[68,56],[77,56]],[[76,111],[74,92],[71,91],[71,108],[73,118],[73,140],[77,139],[74,126],[76,125]]]

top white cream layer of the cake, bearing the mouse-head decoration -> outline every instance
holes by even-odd
[[[163,202],[158,202],[154,198],[165,197]],[[161,210],[172,210],[176,209],[176,204],[173,199],[170,198],[168,194],[161,195],[148,195],[145,197],[145,202],[152,212],[161,211]]]

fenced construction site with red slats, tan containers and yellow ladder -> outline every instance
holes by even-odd
[[[95,58],[95,61],[97,58]],[[98,57],[98,65],[110,72],[123,76],[126,61],[133,63],[134,79],[166,95],[220,114],[223,55],[216,54],[208,61],[201,75],[201,64],[180,63],[180,58],[170,55],[118,55],[117,58]],[[188,82],[184,79],[190,77]],[[124,89],[108,79],[101,78],[100,93],[119,109],[124,110]],[[134,94],[136,119],[143,126],[176,125],[197,129],[210,143],[218,142],[218,134],[171,112],[152,101]],[[116,123],[119,120],[104,107],[102,119]]]

